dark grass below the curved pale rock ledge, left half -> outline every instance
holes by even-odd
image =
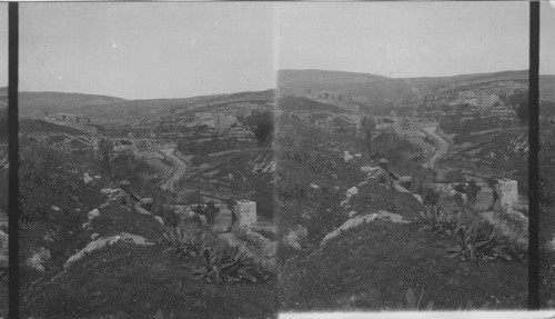
[[[152,318],[159,309],[172,310],[174,318],[274,316],[272,286],[194,280],[179,258],[162,250],[115,243],[93,252],[36,291],[33,310],[49,318]]]

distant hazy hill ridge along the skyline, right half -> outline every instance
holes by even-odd
[[[466,90],[472,87],[519,87],[527,83],[527,71],[461,74],[454,77],[387,78],[382,76],[320,71],[280,70],[278,86],[282,94],[305,96],[307,92],[330,92],[349,96],[367,108],[402,106],[421,101],[426,96]],[[554,76],[541,77],[542,99],[554,100]],[[496,91],[500,93],[500,91]]]

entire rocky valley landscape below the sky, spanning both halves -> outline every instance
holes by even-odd
[[[387,310],[408,290],[442,310],[526,307],[523,72],[282,73],[279,90],[174,100],[22,93],[29,315]],[[122,205],[122,180],[151,205]],[[465,250],[472,227],[503,245]],[[220,245],[248,272],[194,279]],[[123,283],[137,297],[115,301]]]

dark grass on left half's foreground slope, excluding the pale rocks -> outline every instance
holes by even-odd
[[[100,189],[113,185],[109,177],[97,185],[84,185],[84,171],[94,175],[100,170],[95,161],[23,141],[21,162],[23,209],[31,209],[20,231],[24,317],[151,318],[158,310],[173,311],[173,318],[275,316],[274,283],[215,286],[192,279],[190,267],[200,266],[200,258],[164,253],[169,245],[163,241],[164,227],[152,217],[111,202],[100,208],[100,216],[90,222],[91,231],[82,229],[88,212],[105,201]],[[148,178],[142,178],[152,171],[134,158],[112,162],[114,176],[131,180],[132,191],[139,196],[157,198],[153,211],[160,212],[172,199],[149,183]],[[133,179],[137,175],[140,177]],[[60,211],[51,206],[60,207]],[[154,245],[117,242],[87,255],[64,271],[64,262],[91,241],[93,232],[100,237],[129,232]],[[43,262],[44,272],[24,263],[41,247],[51,255],[51,259]]]

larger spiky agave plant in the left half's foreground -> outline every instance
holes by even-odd
[[[193,268],[193,278],[204,278],[206,282],[236,282],[256,281],[255,263],[240,251],[224,241],[218,241],[202,251],[203,266]]]

